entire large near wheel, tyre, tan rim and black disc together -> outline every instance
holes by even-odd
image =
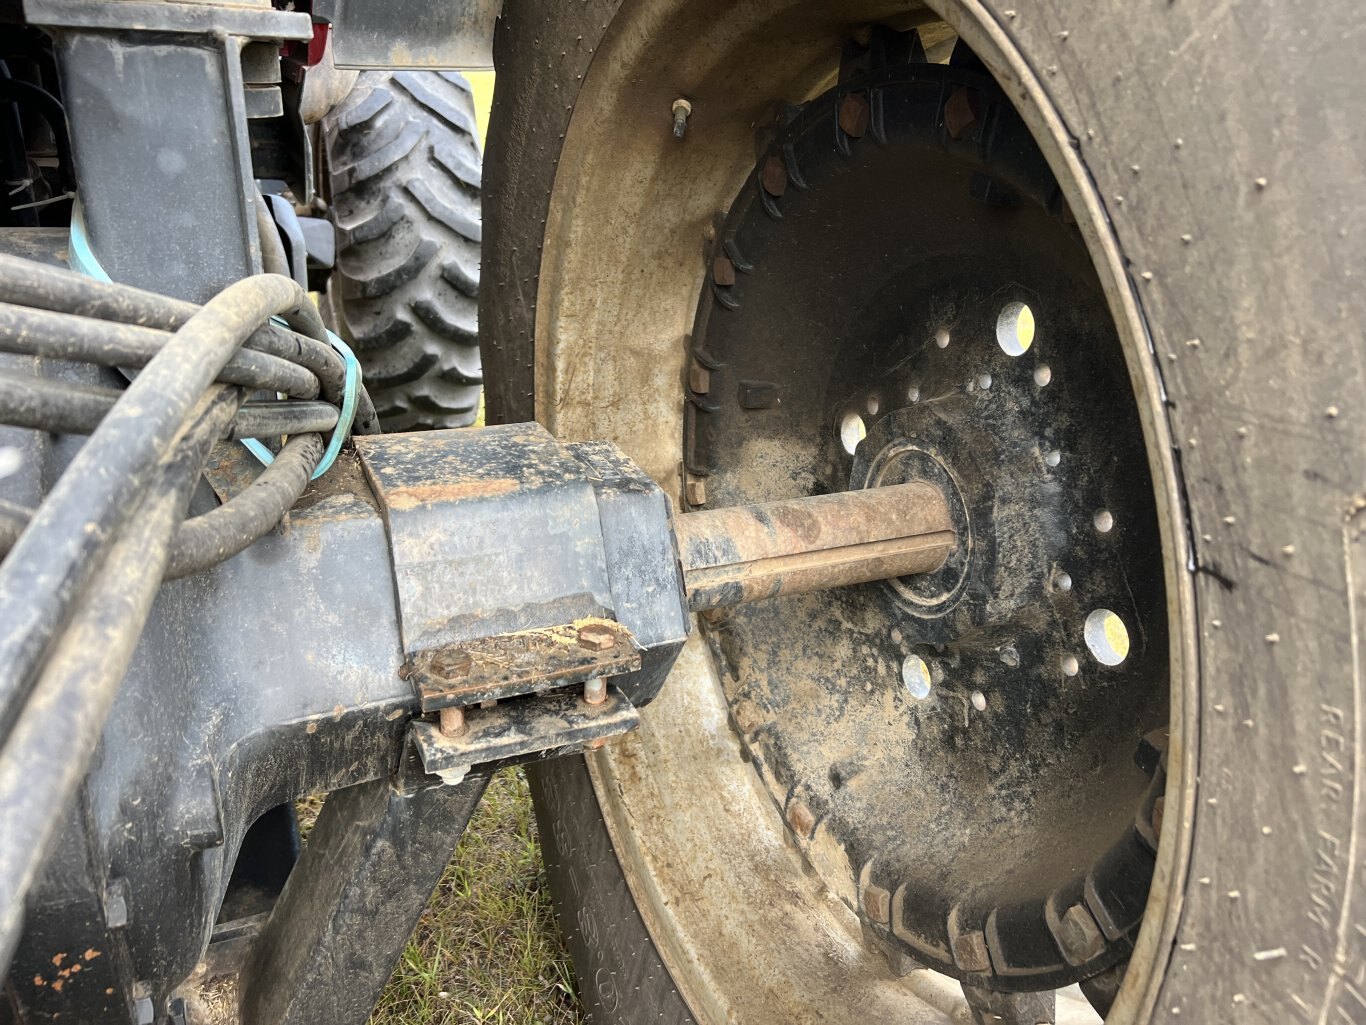
[[[1361,815],[1310,764],[1356,745],[1366,366],[1283,269],[1351,235],[1266,245],[1311,190],[1191,101],[1270,116],[1236,48],[1164,56],[1186,12],[831,7],[503,25],[493,415],[611,437],[684,508],[925,480],[959,537],[709,615],[638,739],[538,771],[594,1020],[1040,1022],[1071,984],[1060,1021],[1326,1013],[1326,951],[1366,964],[1320,933],[1351,914],[1314,836]]]

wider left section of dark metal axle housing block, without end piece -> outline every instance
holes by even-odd
[[[601,616],[583,466],[531,425],[357,439],[384,508],[408,653]]]

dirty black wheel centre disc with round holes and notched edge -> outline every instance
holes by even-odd
[[[788,832],[867,931],[975,985],[1061,987],[1128,955],[1154,864],[1158,782],[1132,756],[1167,722],[1169,651],[1143,435],[1075,224],[992,81],[873,72],[876,139],[837,123],[851,89],[769,145],[807,187],[751,180],[717,231],[749,271],[703,291],[687,470],[709,507],[928,481],[958,545],[729,610],[713,656]],[[981,118],[945,139],[956,90]],[[941,200],[892,216],[910,179]],[[747,403],[755,383],[780,402]],[[1096,614],[1123,652],[1097,653]]]

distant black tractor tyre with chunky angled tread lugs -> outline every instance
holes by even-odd
[[[333,328],[385,430],[478,414],[479,144],[469,83],[366,71],[324,120],[337,266]]]

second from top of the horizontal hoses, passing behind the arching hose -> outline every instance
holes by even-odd
[[[0,302],[0,351],[4,353],[139,369],[169,340],[168,331]],[[318,379],[311,370],[249,348],[232,355],[219,380],[253,391],[284,392],[295,399],[318,396]]]

